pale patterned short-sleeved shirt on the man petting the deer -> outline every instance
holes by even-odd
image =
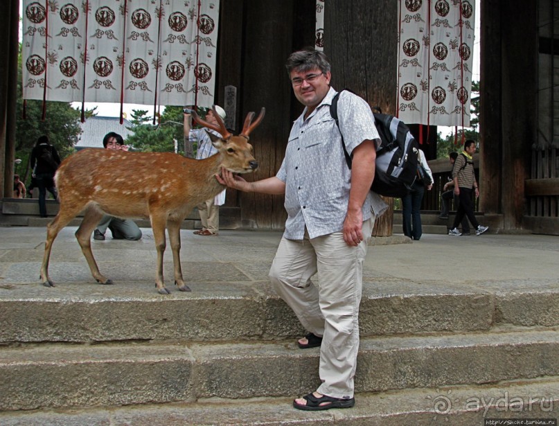
[[[349,202],[351,170],[348,168],[338,127],[330,116],[336,91],[330,91],[308,116],[296,119],[291,129],[285,158],[276,177],[285,182],[287,222],[283,236],[303,240],[305,227],[310,238],[342,231]],[[343,91],[338,103],[339,127],[346,149],[351,152],[365,140],[380,139],[369,105]],[[369,191],[362,207],[363,220],[371,212],[380,215],[387,204]]]

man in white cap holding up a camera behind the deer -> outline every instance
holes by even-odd
[[[226,114],[222,107],[215,105],[215,111],[219,114],[222,120],[225,120]],[[213,115],[213,111],[210,109],[206,114],[206,121],[208,123],[218,124],[217,118]],[[203,129],[192,129],[192,116],[185,112],[185,127],[188,131],[188,140],[190,143],[197,143],[196,148],[196,159],[202,160],[211,157],[216,154],[218,150],[211,143],[210,136],[208,132],[221,137],[221,134],[215,132],[215,130],[203,128]],[[202,221],[202,229],[199,231],[194,231],[196,235],[199,236],[217,236],[220,229],[220,208],[225,203],[225,190],[223,190],[219,195],[206,200],[206,202],[199,204],[198,213],[200,215],[200,220]]]

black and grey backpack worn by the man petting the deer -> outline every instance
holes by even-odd
[[[330,105],[330,115],[338,129],[337,105],[340,93],[334,96]],[[380,135],[380,146],[377,148],[375,179],[371,190],[384,197],[405,197],[417,177],[419,144],[411,136],[407,125],[398,118],[376,112],[373,112],[373,116]],[[346,150],[343,135],[341,145],[344,147],[348,168],[351,169],[351,156]]]

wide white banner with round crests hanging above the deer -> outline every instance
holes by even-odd
[[[23,0],[24,99],[210,107],[219,6]]]

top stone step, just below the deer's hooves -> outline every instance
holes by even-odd
[[[140,258],[128,267],[148,277],[152,263],[142,263]],[[17,272],[13,281],[21,278],[23,265],[36,279],[38,263],[19,265],[13,269]],[[78,281],[55,288],[36,281],[14,284],[11,290],[0,290],[0,342],[269,340],[301,335],[299,321],[266,279],[268,265],[184,263],[193,291],[179,292],[169,286],[168,296],[157,294],[151,281],[116,281],[115,285]],[[87,265],[81,265],[80,271],[89,275]],[[4,271],[3,283],[8,287],[10,273],[12,269]],[[76,272],[62,268],[58,274],[71,280]],[[499,324],[559,326],[559,283],[441,285],[365,272],[360,306],[363,336],[483,331]]]

